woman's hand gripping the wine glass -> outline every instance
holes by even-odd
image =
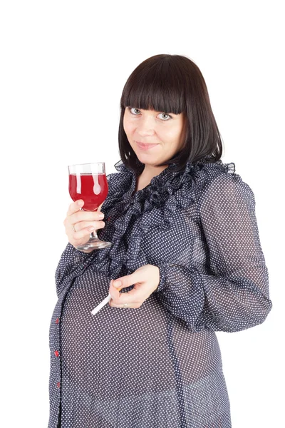
[[[71,203],[66,218],[63,221],[63,225],[66,227],[68,242],[73,247],[87,243],[91,232],[103,229],[105,226],[105,223],[101,221],[104,218],[104,214],[100,212],[103,203],[99,205],[96,211],[82,211],[81,208],[83,205],[84,201],[82,199]],[[73,227],[76,232],[74,232]]]

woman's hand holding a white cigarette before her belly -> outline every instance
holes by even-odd
[[[112,307],[140,307],[147,297],[157,289],[159,282],[160,270],[157,266],[141,266],[130,275],[111,280],[109,292],[112,299],[109,305]],[[120,293],[122,288],[133,284],[132,290]],[[128,303],[128,306],[124,306],[125,303]]]

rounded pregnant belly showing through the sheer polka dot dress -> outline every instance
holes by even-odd
[[[141,307],[105,305],[90,311],[107,295],[110,279],[88,270],[68,291],[61,316],[63,382],[93,388],[96,399],[118,398],[175,388],[221,370],[214,332],[193,333],[157,302]]]

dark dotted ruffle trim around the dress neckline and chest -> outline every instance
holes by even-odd
[[[141,248],[141,240],[150,228],[167,230],[177,210],[190,207],[204,187],[220,173],[234,173],[234,163],[187,163],[185,170],[177,172],[169,165],[152,178],[149,185],[135,192],[140,173],[129,170],[122,161],[115,164],[118,173],[108,175],[108,197],[101,210],[105,213],[104,229],[99,238],[111,240],[110,248],[95,250],[90,256],[94,270],[112,279],[132,272],[148,263]],[[134,193],[134,194],[133,194]],[[108,225],[108,219],[110,225]],[[132,222],[130,245],[126,248],[123,237]]]

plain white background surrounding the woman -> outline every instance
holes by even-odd
[[[115,172],[123,86],[155,54],[185,55],[199,66],[222,161],[235,163],[256,198],[274,307],[262,325],[217,333],[232,427],[285,426],[281,4],[1,2],[2,427],[48,426],[48,329],[67,244],[67,165],[105,161]]]

